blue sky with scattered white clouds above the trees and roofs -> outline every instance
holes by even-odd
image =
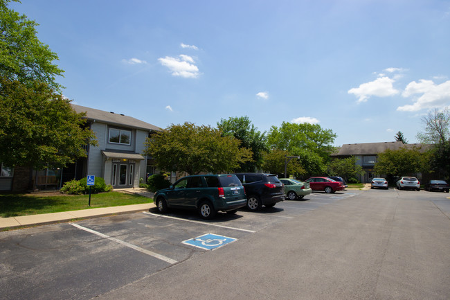
[[[166,128],[248,116],[418,143],[450,106],[450,0],[21,0],[73,103]]]

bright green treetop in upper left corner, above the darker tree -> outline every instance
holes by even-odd
[[[8,8],[9,2],[0,0],[0,76],[28,87],[35,81],[46,82],[60,91],[56,76],[64,71],[54,64],[57,54],[37,38],[38,24]]]

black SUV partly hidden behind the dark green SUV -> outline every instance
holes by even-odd
[[[258,211],[264,205],[273,207],[285,200],[285,188],[280,179],[273,174],[235,173],[245,188],[247,209]]]

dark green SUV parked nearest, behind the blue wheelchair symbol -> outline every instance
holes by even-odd
[[[244,186],[236,175],[186,176],[156,191],[153,199],[160,213],[170,208],[196,209],[204,219],[214,218],[217,211],[236,213],[246,205]]]

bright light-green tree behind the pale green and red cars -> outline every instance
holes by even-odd
[[[272,149],[286,150],[290,155],[300,156],[305,175],[323,175],[334,150],[332,143],[336,134],[321,125],[283,122],[272,126],[267,134],[267,143]]]

